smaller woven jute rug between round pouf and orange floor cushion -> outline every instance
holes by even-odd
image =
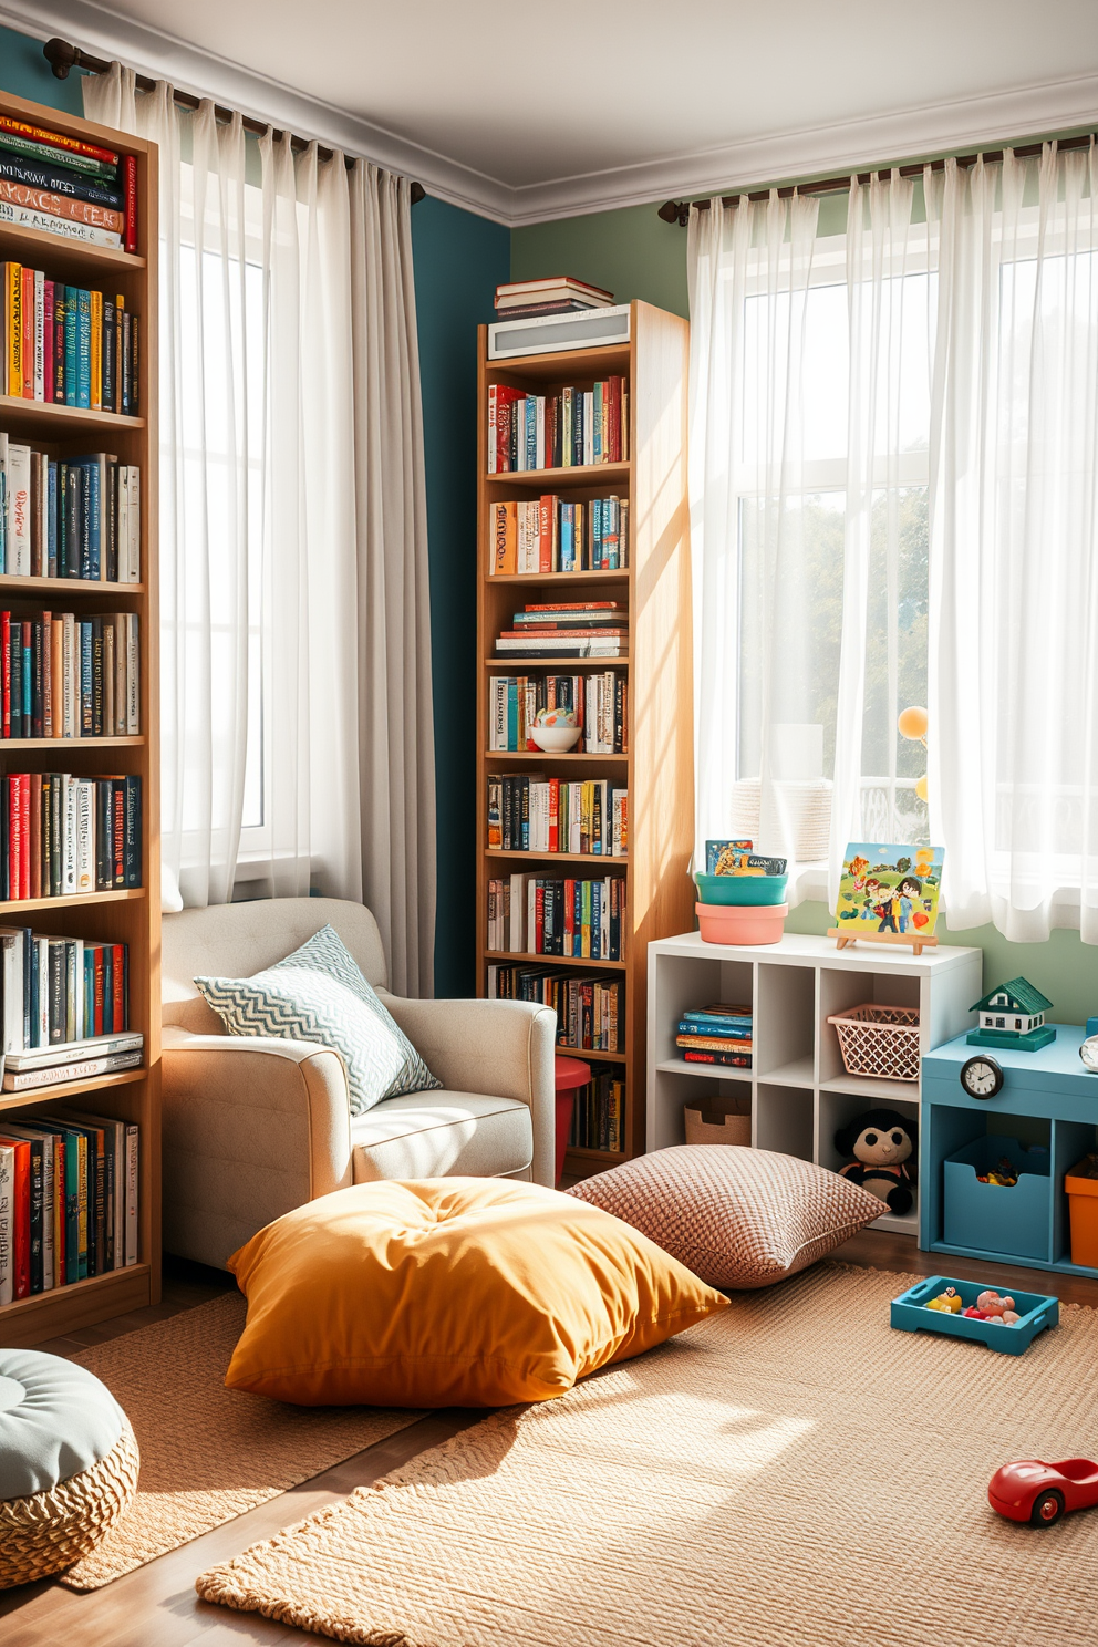
[[[142,1474],[125,1517],[63,1575],[71,1589],[99,1589],[423,1416],[226,1390],[244,1314],[227,1293],[74,1357],[127,1411]]]

